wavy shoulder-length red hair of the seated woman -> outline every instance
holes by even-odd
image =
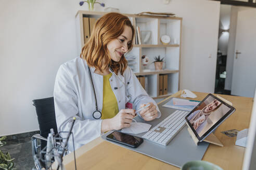
[[[85,43],[80,54],[80,58],[86,60],[88,66],[95,67],[103,72],[103,70],[111,67],[113,71],[123,75],[127,67],[127,61],[124,56],[119,62],[111,60],[107,44],[118,38],[124,31],[124,25],[130,26],[132,29],[132,40],[127,45],[128,51],[133,47],[134,28],[128,17],[120,13],[110,12],[99,18],[94,25],[91,37]]]

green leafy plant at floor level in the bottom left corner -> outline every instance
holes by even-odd
[[[0,137],[0,147],[4,146],[6,144],[6,136]],[[9,152],[2,152],[0,150],[0,169],[8,169],[8,170],[14,170],[14,158],[11,159]]]

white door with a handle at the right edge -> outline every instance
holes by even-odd
[[[253,97],[256,86],[256,8],[239,8],[232,95]]]

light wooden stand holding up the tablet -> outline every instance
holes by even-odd
[[[227,104],[231,105],[232,106],[232,103],[225,100],[225,98],[217,95],[218,98],[220,98],[220,100],[226,102]],[[188,130],[188,133],[191,135],[193,141],[195,142],[196,145],[198,145],[199,143],[199,140],[198,138],[196,137],[196,135],[194,134],[193,130],[191,130],[191,127],[188,125],[187,123],[187,130]],[[223,147],[224,145],[221,143],[221,141],[213,134],[211,133],[209,136],[207,136],[203,141],[206,141],[207,143],[210,143],[210,144],[214,144],[214,145],[217,145],[217,146],[221,146]]]

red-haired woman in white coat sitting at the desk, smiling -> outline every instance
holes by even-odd
[[[68,131],[70,118],[76,117],[75,149],[107,131],[129,127],[134,109],[149,105],[138,113],[145,121],[161,116],[124,58],[133,47],[134,34],[129,18],[107,13],[97,20],[80,58],[60,66],[54,87],[56,122],[58,131]],[[134,109],[125,109],[128,102]]]

